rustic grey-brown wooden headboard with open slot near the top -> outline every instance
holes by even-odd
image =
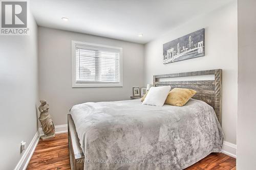
[[[160,81],[160,78],[177,78],[202,75],[215,75],[215,80],[201,81]],[[172,88],[189,88],[196,90],[193,99],[201,100],[214,108],[221,124],[221,95],[222,95],[222,69],[203,71],[180,72],[175,74],[156,75],[153,80],[154,86],[167,86]]]

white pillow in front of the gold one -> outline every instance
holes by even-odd
[[[170,86],[151,87],[142,104],[163,106],[169,91]]]

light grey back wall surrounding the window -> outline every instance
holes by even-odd
[[[67,124],[69,109],[84,102],[128,100],[143,85],[143,45],[68,31],[38,28],[39,98],[50,105],[55,125]],[[72,88],[71,41],[123,48],[123,87]]]

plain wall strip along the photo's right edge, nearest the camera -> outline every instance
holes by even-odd
[[[255,169],[256,1],[238,1],[237,169]]]

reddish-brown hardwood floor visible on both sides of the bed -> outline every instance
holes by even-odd
[[[70,169],[68,134],[57,134],[53,139],[46,141],[40,140],[27,169]],[[212,153],[186,168],[186,170],[199,169],[236,170],[236,159],[223,153]]]

